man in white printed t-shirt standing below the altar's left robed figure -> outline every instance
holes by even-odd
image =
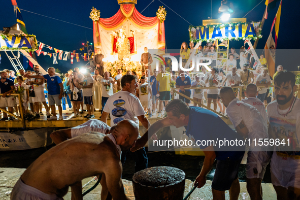
[[[102,83],[102,99],[101,99],[101,103],[102,103],[101,113],[102,113],[103,109],[105,107],[105,104],[107,102],[107,99],[114,93],[113,92],[114,80],[112,77],[110,77],[109,72],[104,73],[104,77],[101,80],[101,83]]]

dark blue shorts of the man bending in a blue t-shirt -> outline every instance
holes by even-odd
[[[239,165],[243,156],[240,159],[218,160],[216,172],[212,182],[212,188],[218,191],[230,189],[232,182],[238,178]]]

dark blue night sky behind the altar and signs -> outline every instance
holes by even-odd
[[[142,12],[152,0],[138,0],[136,8],[139,12]],[[202,25],[203,19],[208,19],[211,16],[211,1],[203,0],[161,0],[166,6],[170,7],[176,13],[181,15],[184,19],[190,22],[192,25]],[[251,9],[253,9],[261,0],[243,0],[243,1],[231,1],[235,6],[235,14],[232,18],[242,18]],[[13,6],[10,0],[2,0],[0,7],[0,27],[9,27],[16,23],[16,15],[13,11]],[[100,10],[101,18],[109,18],[113,16],[120,8],[117,0],[109,1],[81,1],[81,0],[52,0],[52,1],[21,1],[17,0],[18,7],[30,12],[46,15],[59,20],[68,21],[81,26],[92,28],[92,20],[89,18],[89,13],[92,7]],[[154,2],[144,11],[142,14],[147,17],[156,16],[156,11],[159,6],[164,6],[158,0]],[[263,49],[266,40],[269,37],[271,25],[276,15],[279,2],[275,9],[269,12],[269,17],[265,20],[262,29],[262,39],[259,40],[257,49]],[[164,6],[165,7],[165,6]],[[213,19],[219,17],[218,8],[220,7],[220,0],[213,0]],[[277,43],[277,49],[298,49],[299,25],[296,23],[299,19],[300,1],[297,0],[283,0],[282,11],[279,28],[279,38]],[[265,9],[264,1],[258,5],[247,16],[247,21],[259,21],[262,19],[262,15]],[[183,41],[189,43],[189,23],[179,17],[169,8],[166,8],[166,20],[165,24],[165,39],[167,49],[179,49]],[[29,13],[21,10],[24,23],[28,34],[34,34],[37,40],[47,44],[51,47],[63,50],[73,51],[81,48],[82,43],[87,41],[93,42],[92,29],[76,26],[73,24],[57,21],[47,17],[39,16],[33,13]],[[253,44],[253,43],[252,43]],[[243,41],[229,42],[229,47],[235,47],[240,49],[243,46]],[[47,48],[43,48],[43,51],[54,52]],[[77,50],[76,52],[80,52]],[[1,52],[2,60],[0,64],[0,70],[10,69],[13,70],[11,63],[6,57],[4,52]],[[38,62],[47,69],[50,66],[58,68],[61,72],[66,72],[76,66],[83,66],[87,62],[80,61],[74,64],[70,63],[70,60],[63,61],[58,60],[58,64],[53,64],[53,58],[49,56],[40,55],[37,56]],[[21,57],[20,61],[23,63]],[[279,63],[278,63],[279,64]],[[296,71],[296,66],[300,63],[289,64],[284,66],[285,69],[290,71]]]

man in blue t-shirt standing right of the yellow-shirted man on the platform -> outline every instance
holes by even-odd
[[[191,90],[190,89],[184,89],[191,87],[191,78],[188,76],[188,74],[185,74],[183,70],[179,71],[178,77],[176,79],[176,87],[180,88],[180,93],[191,97]],[[190,103],[190,99],[179,95],[179,99],[182,99],[183,102],[188,105]]]

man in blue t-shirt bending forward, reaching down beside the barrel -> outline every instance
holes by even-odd
[[[186,135],[199,145],[205,154],[203,167],[195,180],[195,185],[198,188],[205,185],[206,176],[216,159],[216,171],[212,182],[214,198],[225,199],[225,190],[230,190],[230,197],[238,199],[240,193],[238,169],[245,153],[245,147],[235,146],[231,141],[240,141],[242,137],[215,113],[200,107],[188,107],[181,99],[171,101],[166,105],[165,111],[167,117],[153,123],[143,137],[137,140],[136,146],[131,148],[131,151],[144,147],[148,137],[162,127],[185,126]],[[149,135],[148,132],[150,132]],[[219,146],[220,140],[228,141],[228,143]]]

